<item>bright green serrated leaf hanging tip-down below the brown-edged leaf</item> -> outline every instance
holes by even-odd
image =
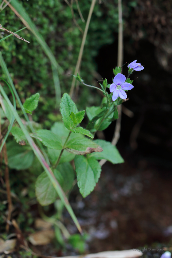
[[[101,166],[93,157],[76,156],[75,167],[80,193],[86,197],[94,190],[100,178]]]

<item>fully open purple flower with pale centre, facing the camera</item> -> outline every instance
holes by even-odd
[[[112,95],[113,101],[115,101],[118,98],[118,96],[123,100],[126,99],[127,94],[124,90],[129,91],[132,88],[134,88],[133,85],[131,85],[130,83],[125,82],[125,81],[126,81],[126,78],[121,73],[118,73],[114,77],[114,79],[113,79],[114,83],[112,83],[109,88],[110,92],[113,92],[113,95]]]

